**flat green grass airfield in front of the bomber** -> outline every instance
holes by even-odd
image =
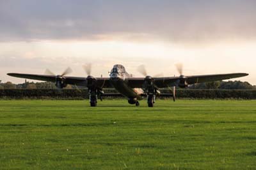
[[[0,100],[0,169],[255,167],[255,100]]]

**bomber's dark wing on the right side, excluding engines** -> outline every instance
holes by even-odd
[[[192,75],[186,76],[188,84],[195,84],[200,82],[221,81],[233,79],[237,77],[244,77],[248,73],[227,73],[227,74],[212,74],[212,75]],[[177,86],[180,77],[154,77],[154,84],[157,88],[166,88],[168,86]],[[143,88],[145,78],[127,78],[127,83],[131,88]]]

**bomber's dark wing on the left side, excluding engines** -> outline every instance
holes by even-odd
[[[32,79],[36,81],[49,81],[49,82],[56,82],[56,76],[55,75],[38,75],[38,74],[27,74],[27,73],[8,73],[7,75],[10,75],[12,77],[19,77],[24,79]],[[86,77],[70,77],[65,76],[65,83],[77,85],[77,86],[87,86]],[[109,82],[109,78],[100,77],[97,78],[97,86],[100,88],[111,88],[111,84]]]

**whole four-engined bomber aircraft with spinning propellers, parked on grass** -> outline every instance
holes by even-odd
[[[145,77],[132,77],[127,73],[125,67],[122,65],[114,65],[109,77],[93,77],[91,75],[91,65],[85,65],[84,70],[87,77],[70,77],[66,76],[72,72],[67,68],[61,75],[54,75],[47,70],[47,74],[27,74],[27,73],[8,73],[7,75],[25,79],[33,79],[38,81],[54,82],[57,88],[65,88],[67,84],[83,86],[88,88],[90,96],[90,105],[97,106],[97,99],[102,100],[104,95],[104,88],[115,88],[121,95],[127,98],[129,104],[140,105],[139,100],[143,96],[147,97],[148,107],[153,107],[156,102],[156,95],[161,95],[160,88],[172,87],[172,97],[175,101],[175,87],[186,88],[189,84],[196,84],[200,82],[213,82],[225,79],[233,79],[237,77],[244,77],[248,73],[226,73],[226,74],[212,74],[212,75],[191,75],[186,76],[182,74],[182,66],[177,65],[180,76],[174,77],[151,77],[147,75],[145,67],[139,66],[138,71]]]

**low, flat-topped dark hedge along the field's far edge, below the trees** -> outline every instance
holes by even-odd
[[[106,89],[104,92],[116,93],[115,89]],[[166,89],[162,92],[170,93]],[[176,96],[177,98],[256,99],[256,90],[178,89]],[[88,98],[88,91],[87,89],[0,89],[0,98],[83,99]]]

